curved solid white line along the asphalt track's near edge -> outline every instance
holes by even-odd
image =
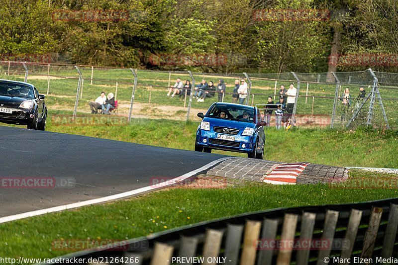
[[[184,175],[182,175],[180,177],[176,177],[176,178],[170,179],[168,181],[165,181],[165,182],[162,182],[162,183],[159,183],[159,184],[156,184],[156,185],[146,186],[146,187],[142,187],[142,188],[138,188],[138,189],[134,189],[134,190],[130,190],[130,191],[126,191],[126,192],[122,192],[122,193],[118,193],[118,194],[114,194],[114,195],[110,195],[110,196],[106,196],[106,197],[100,197],[100,198],[97,198],[97,199],[74,202],[74,203],[60,205],[60,206],[55,206],[55,207],[51,207],[51,208],[45,208],[45,209],[40,209],[40,210],[35,210],[35,211],[18,213],[18,214],[14,214],[14,215],[0,217],[0,224],[1,223],[6,223],[6,222],[10,222],[10,221],[19,220],[19,219],[23,219],[23,218],[43,215],[43,214],[47,214],[47,213],[59,212],[59,211],[62,211],[62,210],[74,209],[74,208],[78,208],[78,207],[82,207],[82,206],[88,206],[88,205],[97,204],[97,203],[101,203],[101,202],[107,202],[107,201],[111,201],[111,200],[115,200],[115,199],[121,199],[121,198],[124,198],[124,197],[130,197],[132,195],[137,195],[139,193],[143,193],[143,192],[150,191],[150,190],[153,190],[153,189],[157,189],[157,188],[160,188],[160,187],[170,186],[170,185],[175,184],[175,183],[177,183],[179,181],[182,181],[182,180],[185,180],[185,179],[187,179],[189,177],[192,177],[192,176],[196,175],[197,173],[199,173],[199,172],[201,172],[203,170],[206,170],[206,169],[218,164],[219,162],[222,162],[222,161],[228,160],[228,159],[231,159],[231,158],[230,157],[224,157],[224,158],[220,158],[220,159],[214,160],[214,161],[202,166],[199,169],[196,169],[196,170],[191,171],[191,172],[189,172],[187,174],[184,174]]]

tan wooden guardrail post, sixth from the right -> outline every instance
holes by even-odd
[[[295,240],[297,221],[298,221],[297,214],[291,214],[291,213],[285,214],[283,227],[282,227],[282,235],[281,235],[281,241],[284,242],[283,244],[289,246],[289,244],[287,244],[286,242],[290,241],[293,242]],[[277,264],[290,265],[290,260],[292,258],[292,251],[293,251],[292,248],[284,248],[279,250]]]

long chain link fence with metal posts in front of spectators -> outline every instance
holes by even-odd
[[[398,74],[371,69],[210,74],[0,61],[0,78],[35,85],[46,95],[50,115],[91,114],[90,102],[103,91],[117,101],[110,117],[123,121],[199,121],[198,112],[222,101],[257,106],[270,126],[276,125],[277,103],[283,103],[285,127],[398,128]],[[247,90],[238,94],[237,88],[245,84]]]

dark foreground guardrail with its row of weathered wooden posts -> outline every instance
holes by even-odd
[[[218,261],[228,265],[321,265],[337,263],[337,260],[344,263],[342,259],[353,262],[369,258],[373,259],[369,263],[375,264],[397,256],[397,227],[398,198],[280,208],[127,240],[122,250],[109,246],[60,258],[85,258],[86,261],[101,258],[140,265],[169,265],[178,263],[177,258],[181,257],[196,257],[202,264]],[[273,248],[278,242],[291,245]],[[312,244],[310,248],[304,246],[308,243]],[[183,264],[193,264],[192,261],[185,260]]]

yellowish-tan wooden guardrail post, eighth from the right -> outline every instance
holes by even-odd
[[[254,263],[256,262],[257,246],[254,243],[260,237],[260,230],[261,230],[260,221],[246,222],[240,265],[254,265]]]

